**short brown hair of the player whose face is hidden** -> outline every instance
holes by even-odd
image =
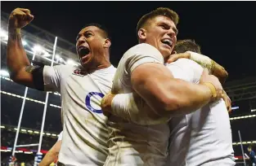
[[[200,46],[191,39],[177,41],[173,50],[176,51],[177,54],[184,53],[189,50],[201,54]]]

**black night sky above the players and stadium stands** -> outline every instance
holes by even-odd
[[[195,39],[204,55],[227,69],[227,81],[256,76],[256,2],[1,2],[4,12],[16,7],[28,8],[32,24],[72,43],[84,24],[104,24],[115,66],[137,44],[141,15],[169,7],[180,16],[177,38]]]

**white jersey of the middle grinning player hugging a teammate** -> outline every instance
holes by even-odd
[[[146,43],[129,49],[119,61],[113,81],[114,94],[132,92],[131,73],[143,63],[162,63],[164,58]],[[139,125],[116,116],[109,118],[108,166],[164,165],[167,159],[168,124]]]

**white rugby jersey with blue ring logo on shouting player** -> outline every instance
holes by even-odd
[[[45,66],[45,90],[61,94],[63,138],[59,161],[71,165],[103,165],[107,156],[108,130],[101,98],[110,92],[115,68],[92,73],[81,67]]]

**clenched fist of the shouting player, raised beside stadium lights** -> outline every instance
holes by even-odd
[[[9,31],[17,28],[23,28],[34,19],[34,15],[30,14],[29,9],[16,8],[11,11],[9,17]]]

